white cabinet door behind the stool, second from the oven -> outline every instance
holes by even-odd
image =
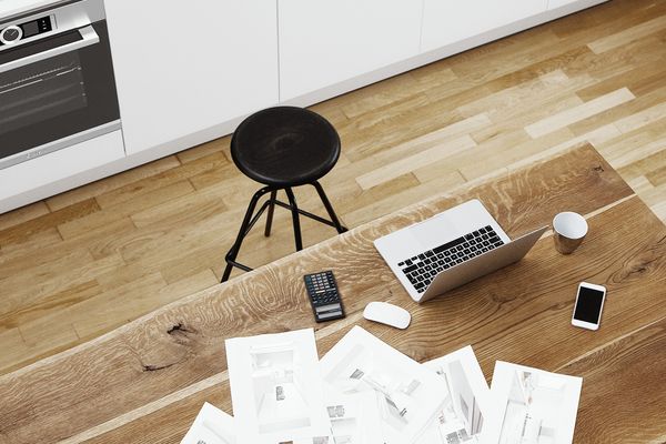
[[[421,0],[279,0],[280,98],[418,53]]]

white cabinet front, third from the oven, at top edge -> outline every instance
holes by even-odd
[[[547,6],[548,0],[424,0],[421,50],[436,50],[536,16]]]

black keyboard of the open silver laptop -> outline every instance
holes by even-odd
[[[414,289],[423,293],[435,276],[454,265],[486,253],[504,242],[491,225],[484,226],[397,264]]]

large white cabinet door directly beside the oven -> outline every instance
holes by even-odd
[[[279,100],[275,0],[107,0],[128,154]]]

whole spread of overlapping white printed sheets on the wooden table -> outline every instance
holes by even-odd
[[[204,404],[183,444],[565,444],[579,377],[497,362],[471,346],[418,364],[353,327],[317,361],[314,332],[226,341],[232,418]]]

